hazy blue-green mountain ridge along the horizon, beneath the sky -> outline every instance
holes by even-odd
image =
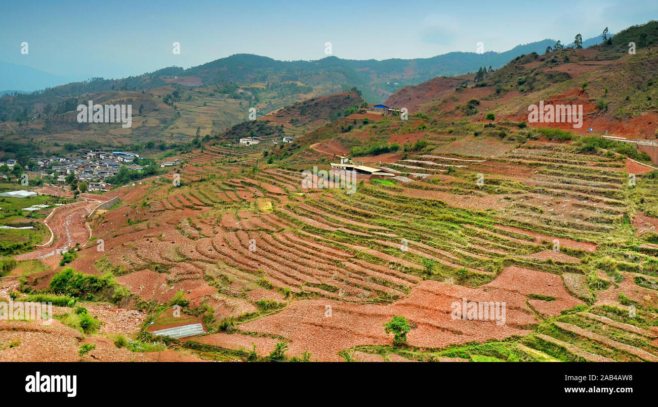
[[[587,39],[583,44],[588,46],[600,41],[601,37],[599,36]],[[363,89],[363,96],[370,102],[380,102],[403,85],[420,84],[436,76],[456,76],[474,72],[480,66],[499,68],[518,55],[532,52],[543,53],[546,47],[554,44],[555,40],[553,39],[543,39],[542,41],[517,45],[509,51],[501,53],[488,51],[478,54],[455,51],[430,58],[386,60],[353,60],[330,56],[320,60],[281,61],[253,54],[235,54],[188,69],[170,66],[143,75],[130,76],[123,80],[104,80],[104,86],[100,87],[98,86],[99,82],[96,81],[97,83],[93,89],[83,89],[84,85],[74,85],[85,84],[86,82],[66,84],[72,78],[64,78],[29,66],[0,61],[0,89],[16,89],[20,93],[30,93],[36,89],[72,85],[71,92],[64,92],[64,95],[74,96],[79,91],[109,91],[112,90],[112,85],[116,89],[118,88],[116,86],[118,82],[121,82],[124,87],[128,84],[127,89],[129,90],[152,89],[163,85],[163,82],[153,80],[153,78],[196,76],[201,79],[204,85],[223,82],[244,84],[276,79],[295,81],[304,77],[330,72],[333,74],[333,78],[326,78],[326,76],[321,75],[321,78],[312,79],[311,82],[328,79],[333,82],[342,81],[345,85],[357,86],[375,82],[376,89],[372,91]],[[272,78],[272,75],[280,75],[281,77]],[[301,80],[301,82],[304,81]],[[313,83],[310,85],[313,85]],[[62,92],[59,92],[59,95],[63,95]]]

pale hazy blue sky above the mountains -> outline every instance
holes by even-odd
[[[506,51],[544,38],[573,41],[658,18],[658,1],[8,1],[0,61],[66,76],[121,78],[254,53],[348,59]],[[21,55],[27,41],[29,54]],[[181,54],[172,53],[172,43]]]

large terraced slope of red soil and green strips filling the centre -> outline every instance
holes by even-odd
[[[168,174],[122,191],[91,222],[105,251],[70,266],[112,270],[136,303],[182,292],[209,331],[184,347],[218,358],[280,342],[318,360],[657,357],[658,245],[631,222],[653,178],[628,185],[619,156],[432,151],[382,162],[397,176],[351,193],[303,187],[265,147],[205,145],[180,186]],[[507,322],[451,318],[461,299],[505,302]],[[394,315],[414,328],[405,347],[382,328]]]

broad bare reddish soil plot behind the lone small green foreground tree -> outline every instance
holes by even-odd
[[[481,342],[527,334],[532,324],[538,322],[532,310],[526,306],[529,294],[557,297],[557,300],[551,302],[530,300],[533,308],[545,314],[555,315],[579,303],[565,291],[557,275],[510,268],[495,281],[497,283],[490,283],[480,289],[423,281],[406,299],[388,306],[327,300],[295,302],[279,314],[240,325],[240,328],[286,338],[291,354],[301,355],[309,350],[318,360],[336,361],[342,359],[337,352],[344,348],[390,344],[391,337],[387,337],[381,327],[393,315],[405,316],[417,326],[409,333],[410,345],[441,348],[470,341]],[[451,303],[461,304],[463,298],[468,301],[505,301],[505,325],[496,325],[495,321],[453,320]],[[327,306],[331,307],[330,317],[326,316]],[[231,336],[215,337],[213,343],[230,347],[233,345]]]

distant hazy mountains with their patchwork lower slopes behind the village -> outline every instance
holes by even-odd
[[[622,33],[619,36],[623,42],[626,39]],[[597,42],[596,38],[588,39],[584,45]],[[381,61],[333,56],[315,61],[280,61],[237,54],[189,69],[170,66],[118,80],[91,78],[34,93],[1,97],[0,134],[4,143],[0,151],[16,156],[20,150],[20,155],[36,156],[56,154],[66,145],[138,151],[145,145],[153,149],[154,143],[162,146],[159,148],[186,151],[191,141],[218,136],[247,120],[251,108],[256,109],[259,117],[273,118],[271,114],[280,108],[300,101],[312,101],[316,105],[318,98],[349,90],[356,91],[367,103],[392,103],[394,107],[406,106],[411,112],[419,104],[439,97],[432,95],[436,89],[430,89],[434,81],[444,81],[436,85],[437,89],[446,91],[466,80],[447,78],[451,72],[476,72],[482,66],[497,69],[521,55],[543,55],[553,45],[553,40],[545,39],[519,45],[505,53],[449,53],[428,59]],[[515,74],[520,76],[522,70]],[[544,76],[542,83],[571,77],[566,73],[565,78],[558,78],[555,73]],[[411,89],[416,85],[420,85],[418,90]],[[526,85],[526,91],[530,89],[531,85]],[[430,93],[424,97],[415,95],[427,90]],[[89,101],[132,105],[132,127],[78,123],[76,107]],[[300,114],[283,112],[276,121],[288,132],[308,132],[326,120],[347,115],[345,112],[355,107],[353,101],[340,100],[339,104],[341,108],[334,109],[331,116],[320,108],[315,116],[305,118],[302,116],[309,113],[304,108]],[[30,143],[25,143],[26,140]]]

